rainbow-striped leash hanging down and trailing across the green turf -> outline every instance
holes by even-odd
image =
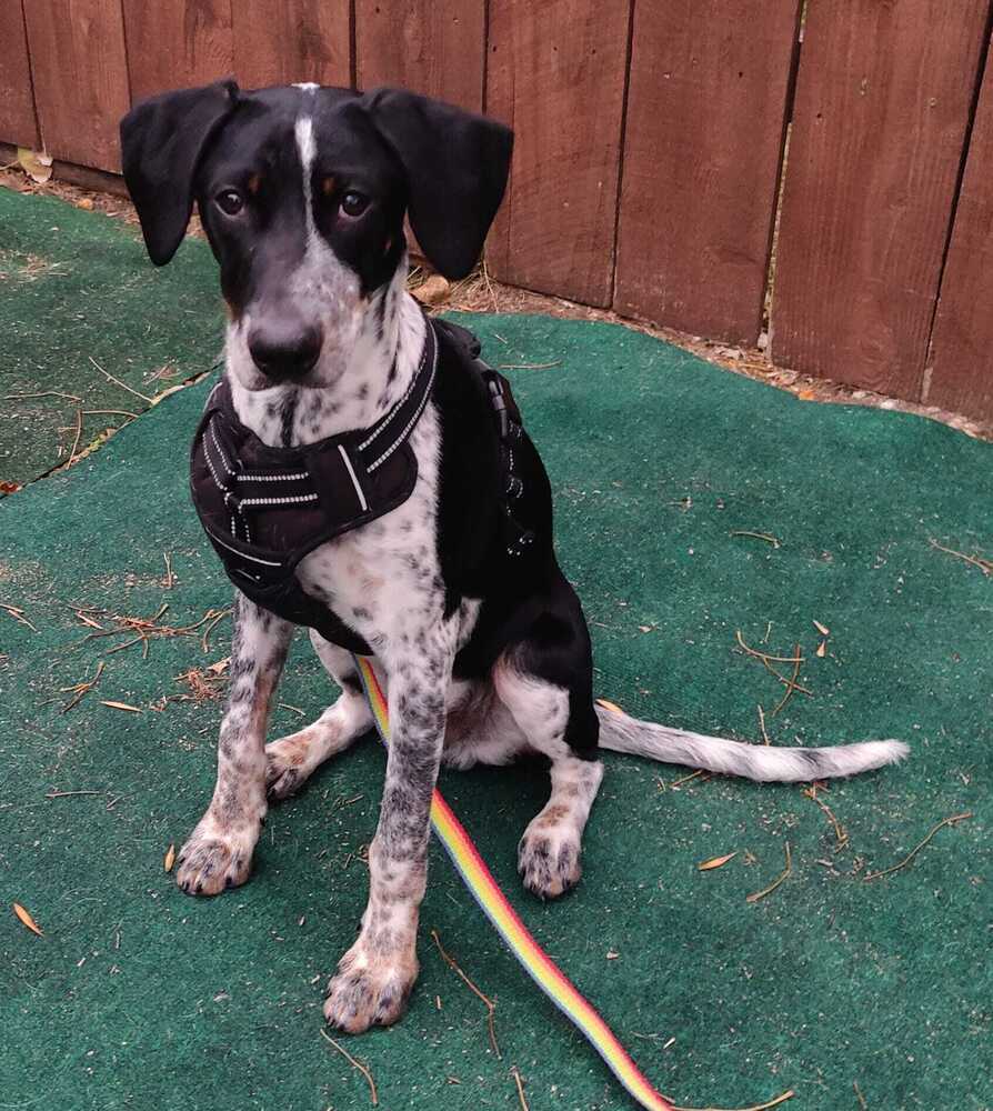
[[[383,744],[389,744],[390,718],[382,688],[369,660],[357,655],[355,663],[365,687],[365,697],[369,699],[377,729]],[[437,788],[431,798],[431,827],[473,899],[493,923],[493,928],[503,938],[510,951],[521,962],[524,971],[555,1007],[583,1032],[593,1049],[603,1058],[606,1067],[643,1108],[649,1108],[650,1111],[673,1111],[672,1104],[652,1088],[631,1060],[628,1051],[596,1009],[583,999],[574,984],[563,975],[531,935],[516,911],[508,902],[506,895],[500,890],[472,839]]]

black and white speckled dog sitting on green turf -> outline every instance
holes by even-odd
[[[220,82],[137,106],[121,134],[152,260],[172,258],[195,200],[220,263],[231,427],[278,459],[280,449],[305,452],[389,423],[414,388],[434,327],[405,290],[404,216],[441,273],[467,274],[503,196],[511,132],[399,90],[247,92]],[[754,747],[598,707],[586,623],[555,561],[541,461],[518,429],[524,492],[514,512],[529,543],[510,551],[505,476],[493,462],[499,432],[459,367],[441,360],[411,422],[415,481],[405,500],[322,542],[295,569],[307,595],[349,631],[349,647],[367,647],[389,699],[369,904],[324,1005],[332,1025],[353,1032],[400,1018],[418,974],[429,804],[443,760],[467,768],[522,752],[548,758],[551,797],[524,831],[519,863],[524,885],[552,898],[580,878],[583,828],[603,775],[598,739],[613,751],[755,780],[849,775],[906,751],[899,741]],[[364,506],[369,476],[350,478]],[[227,497],[220,478],[218,489]],[[309,498],[318,494],[299,496]],[[267,745],[293,625],[244,592],[234,614],[217,789],[177,870],[179,885],[197,894],[243,883],[267,795],[290,794],[372,725],[350,652],[311,631],[341,695],[313,724]]]

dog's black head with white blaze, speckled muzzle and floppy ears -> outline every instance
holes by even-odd
[[[233,81],[153,97],[121,121],[124,179],[152,261],[193,209],[221,268],[249,389],[331,386],[405,258],[403,218],[448,278],[474,266],[511,131],[397,89]]]

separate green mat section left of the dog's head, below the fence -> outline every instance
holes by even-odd
[[[140,232],[120,220],[0,188],[0,493],[211,366],[221,318],[210,250],[188,240],[179,262],[149,266]]]

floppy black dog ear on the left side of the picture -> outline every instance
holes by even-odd
[[[182,242],[193,211],[197,164],[237,100],[238,86],[218,81],[151,97],[121,120],[124,181],[157,267]]]

